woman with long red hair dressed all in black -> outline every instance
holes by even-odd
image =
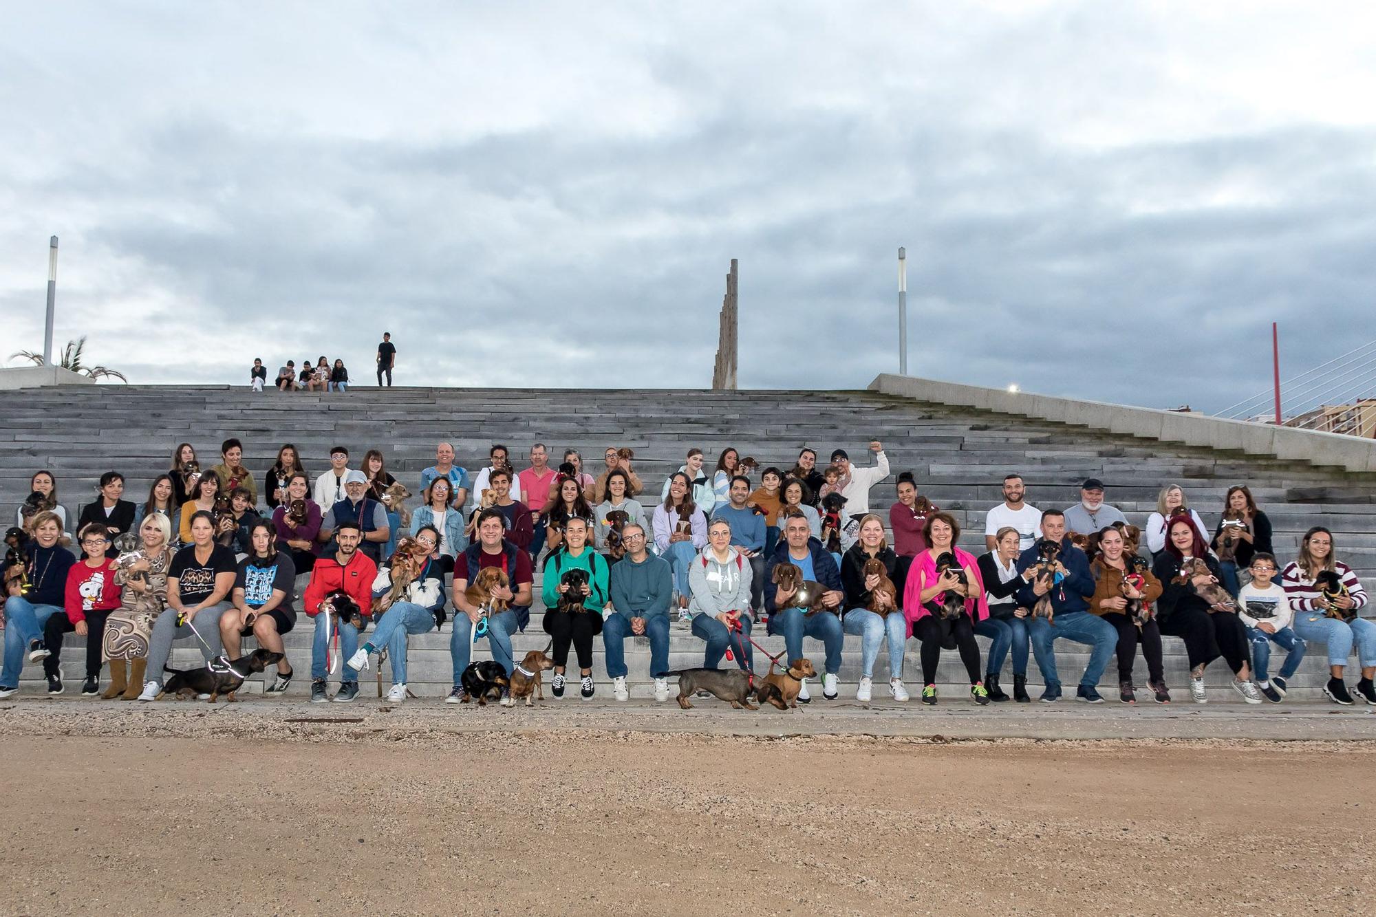
[[[1193,569],[1196,560],[1203,562],[1208,573],[1189,574],[1185,582],[1176,582],[1181,570]],[[1233,669],[1233,690],[1248,704],[1260,704],[1262,693],[1252,684],[1247,626],[1237,617],[1237,603],[1230,600],[1215,604],[1200,595],[1200,589],[1218,587],[1221,571],[1204,534],[1189,515],[1171,516],[1165,548],[1156,555],[1152,573],[1163,585],[1161,598],[1156,603],[1161,633],[1185,640],[1190,658],[1190,699],[1196,704],[1208,702],[1204,694],[1204,669],[1223,657]]]

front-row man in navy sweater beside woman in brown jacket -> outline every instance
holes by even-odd
[[[1025,609],[1036,609],[1042,596],[1050,596],[1053,621],[1043,617],[1032,618],[1028,636],[1032,640],[1032,654],[1042,671],[1046,690],[1043,704],[1061,699],[1061,679],[1055,671],[1055,640],[1072,640],[1090,647],[1090,664],[1084,668],[1076,697],[1090,704],[1102,704],[1104,698],[1095,690],[1104,669],[1117,647],[1117,631],[1113,625],[1090,613],[1084,596],[1094,595],[1094,577],[1090,574],[1090,560],[1084,552],[1071,544],[1065,534],[1065,514],[1047,509],[1042,514],[1042,537],[1061,545],[1055,559],[1055,576],[1050,584],[1043,577],[1033,576],[1031,582],[1018,588],[1017,603]],[[1018,573],[1026,580],[1028,569],[1039,560],[1039,547],[1033,544],[1018,556]]]

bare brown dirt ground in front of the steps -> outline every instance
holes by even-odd
[[[1372,742],[358,723],[4,713],[0,910],[1370,913]]]

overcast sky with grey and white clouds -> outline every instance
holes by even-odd
[[[0,30],[4,354],[242,384],[912,375],[1219,409],[1376,339],[1366,3],[44,3]]]

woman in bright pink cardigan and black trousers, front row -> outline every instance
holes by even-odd
[[[937,702],[937,662],[941,650],[959,650],[965,671],[970,675],[970,697],[976,704],[989,702],[980,673],[980,646],[974,642],[974,625],[989,617],[984,598],[984,580],[974,555],[955,547],[960,537],[960,523],[949,512],[927,516],[922,536],[927,549],[918,552],[908,570],[903,589],[903,614],[908,618],[912,636],[922,642],[922,702]],[[943,555],[949,555],[943,562]],[[937,563],[954,566],[937,574]],[[956,571],[959,569],[959,573]],[[965,582],[960,582],[960,574]],[[959,602],[963,596],[965,602]],[[949,610],[947,599],[952,599]],[[947,617],[955,611],[952,617]]]

